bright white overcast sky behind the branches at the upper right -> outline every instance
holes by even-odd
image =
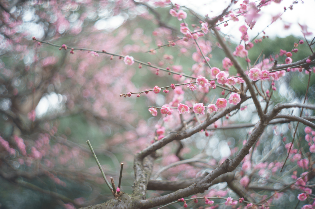
[[[238,5],[241,4],[243,0],[238,1]],[[260,1],[257,1],[258,4]],[[306,38],[311,39],[315,35],[315,1],[314,0],[298,0],[297,4],[293,5],[293,10],[287,9],[284,12],[284,7],[289,8],[292,4],[293,0],[282,0],[280,4],[273,3],[271,5],[265,6],[261,9],[262,16],[257,21],[255,27],[252,30],[248,30],[248,34],[250,39],[255,37],[261,30],[266,32],[266,35],[269,37],[286,37],[288,35],[295,35],[298,37],[302,37],[301,27],[298,25],[307,25],[308,32],[312,32],[313,35],[310,35]],[[199,13],[203,16],[208,14],[209,17],[214,17],[220,14],[230,3],[230,1],[225,0],[172,0],[172,3],[177,3],[180,6],[186,6],[187,8],[192,9],[196,13]],[[233,7],[236,7],[236,5]],[[278,19],[276,22],[272,23],[272,16],[275,16],[279,13],[283,13],[281,19]],[[244,18],[239,18],[239,22],[230,22],[229,25],[223,27],[223,24],[220,26],[221,31],[227,35],[233,35],[236,39],[240,39],[241,33],[238,31],[238,28],[244,24]],[[284,29],[284,23],[291,23],[291,27],[289,29]],[[265,29],[266,28],[266,29]],[[263,34],[262,34],[263,35]],[[261,35],[261,36],[262,36]],[[260,36],[260,37],[261,37]]]

